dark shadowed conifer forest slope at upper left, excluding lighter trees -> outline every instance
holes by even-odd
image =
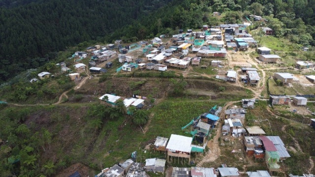
[[[1,8],[0,81],[55,59],[66,47],[103,41],[168,1],[46,0]]]

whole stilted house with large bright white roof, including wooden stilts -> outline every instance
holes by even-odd
[[[172,134],[166,146],[167,160],[169,160],[169,156],[171,156],[188,158],[190,162],[191,142],[192,137]]]

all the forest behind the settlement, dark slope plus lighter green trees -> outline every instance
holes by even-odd
[[[26,5],[1,8],[0,82],[83,41],[136,41],[204,24],[241,23],[249,14],[265,16],[276,36],[315,44],[315,0],[173,0],[165,6],[169,1],[21,0],[16,3]],[[214,11],[225,13],[221,21],[211,15]]]

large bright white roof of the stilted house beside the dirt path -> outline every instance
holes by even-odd
[[[181,135],[172,134],[166,149],[170,151],[181,151],[181,152],[189,152],[191,151],[191,141],[192,137],[186,137]]]

